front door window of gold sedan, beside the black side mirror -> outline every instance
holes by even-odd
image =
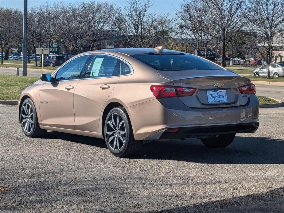
[[[56,80],[71,80],[79,79],[82,76],[82,72],[87,64],[89,55],[80,56],[61,67],[56,73]]]

